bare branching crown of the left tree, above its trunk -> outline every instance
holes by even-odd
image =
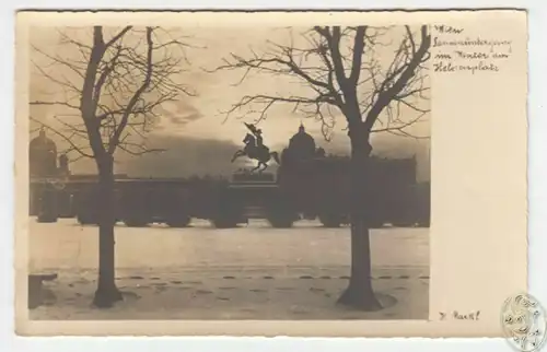
[[[70,66],[78,71],[81,81],[70,82],[57,70],[49,73],[44,70],[44,64],[37,67],[37,71],[49,82],[63,89],[66,98],[59,98],[57,93],[51,101],[36,99],[31,104],[78,109],[80,114],[72,117],[79,118],[81,124],[77,119],[65,120],[59,118],[59,114],[55,115],[66,130],[57,130],[55,134],[62,134],[65,140],[72,142],[86,140],[97,163],[107,153],[112,155],[118,144],[129,149],[133,155],[142,154],[146,146],[137,148],[136,144],[146,139],[146,133],[160,118],[156,108],[163,103],[175,102],[181,93],[194,94],[173,81],[173,77],[184,71],[181,64],[184,58],[172,56],[171,49],[182,48],[185,43],[175,38],[161,42],[154,36],[154,30],[147,27],[139,31],[127,26],[105,39],[103,27],[95,26],[90,44],[80,43],[61,32],[61,44],[75,48],[83,61],[78,57],[61,58],[38,50],[51,64]],[[142,37],[146,39],[144,52],[140,46]],[[67,94],[67,91],[70,93]],[[82,151],[85,148],[74,144],[70,150]]]

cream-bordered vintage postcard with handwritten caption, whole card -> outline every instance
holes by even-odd
[[[525,11],[16,22],[18,333],[503,336]]]

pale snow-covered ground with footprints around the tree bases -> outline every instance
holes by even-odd
[[[373,286],[385,309],[337,306],[347,286],[349,228],[302,221],[216,230],[116,227],[117,282],[126,300],[90,307],[96,288],[98,231],[74,220],[30,223],[30,268],[55,271],[55,294],[34,319],[426,319],[429,230],[382,228],[371,234]]]

